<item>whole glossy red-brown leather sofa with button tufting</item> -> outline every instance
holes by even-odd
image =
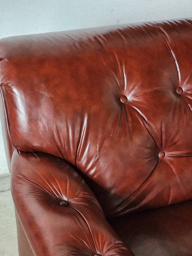
[[[192,255],[191,20],[1,39],[0,84],[19,256]]]

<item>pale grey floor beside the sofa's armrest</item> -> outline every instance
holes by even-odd
[[[18,256],[15,212],[10,190],[0,192],[0,255]]]

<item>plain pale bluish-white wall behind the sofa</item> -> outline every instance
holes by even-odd
[[[0,0],[0,38],[191,17],[192,0]],[[0,174],[8,172],[0,130]]]

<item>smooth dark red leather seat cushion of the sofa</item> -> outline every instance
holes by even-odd
[[[135,256],[191,256],[191,212],[190,200],[109,222]]]

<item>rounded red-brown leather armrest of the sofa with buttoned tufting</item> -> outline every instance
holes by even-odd
[[[68,163],[44,153],[13,153],[11,189],[35,256],[129,255],[88,185]]]

